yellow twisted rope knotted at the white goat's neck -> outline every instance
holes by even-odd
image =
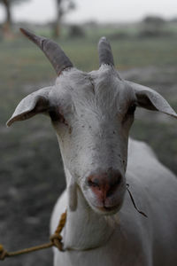
[[[58,247],[58,250],[64,251],[63,243],[62,243],[62,237],[61,237],[60,233],[65,226],[65,221],[66,221],[66,211],[65,211],[65,213],[63,213],[61,215],[59,223],[58,223],[58,227],[57,227],[55,233],[50,236],[50,242],[49,243],[42,244],[40,246],[32,246],[32,247],[25,248],[25,249],[15,251],[15,252],[7,252],[4,249],[4,246],[0,245],[0,260],[3,261],[7,257],[17,256],[19,254],[27,254],[30,252],[44,249],[44,248],[50,248],[51,246],[56,246],[56,247]]]

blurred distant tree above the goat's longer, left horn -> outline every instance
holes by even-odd
[[[63,17],[67,12],[72,11],[75,8],[73,0],[55,0],[57,4],[57,19],[54,23],[54,36],[60,35],[60,26]]]

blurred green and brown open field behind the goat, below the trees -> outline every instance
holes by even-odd
[[[102,33],[104,34],[104,33]],[[96,32],[86,39],[62,39],[75,66],[98,67]],[[177,111],[177,38],[112,40],[116,66],[125,78],[149,85]],[[48,241],[50,213],[65,186],[58,143],[42,115],[5,128],[19,100],[53,84],[55,72],[33,43],[24,38],[0,43],[0,243],[8,249]],[[140,110],[132,136],[153,146],[177,174],[177,121]],[[9,259],[4,266],[51,265],[50,251]]]

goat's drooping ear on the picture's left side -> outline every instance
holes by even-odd
[[[49,103],[49,93],[51,87],[43,88],[29,94],[26,98],[23,98],[12,117],[7,121],[6,125],[10,127],[14,121],[23,121],[31,118],[37,113],[44,113],[48,111]]]

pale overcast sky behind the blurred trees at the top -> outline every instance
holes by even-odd
[[[24,0],[24,3],[26,1]],[[65,21],[77,22],[126,22],[141,20],[147,14],[177,16],[177,0],[75,0],[77,8],[70,12]],[[16,21],[47,22],[54,20],[55,0],[28,0],[27,4],[14,7]],[[0,21],[4,20],[4,9],[0,6]]]

